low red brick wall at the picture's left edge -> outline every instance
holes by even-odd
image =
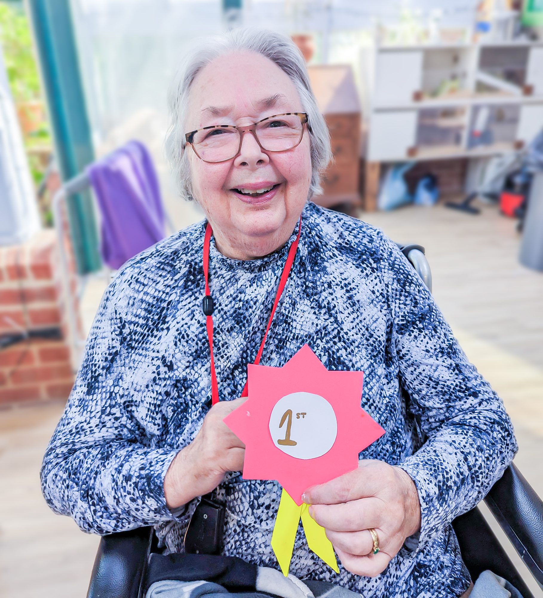
[[[27,338],[0,349],[0,407],[68,398],[73,372],[61,274],[54,230],[23,245],[0,247],[0,337],[27,329],[62,330],[62,340]]]

